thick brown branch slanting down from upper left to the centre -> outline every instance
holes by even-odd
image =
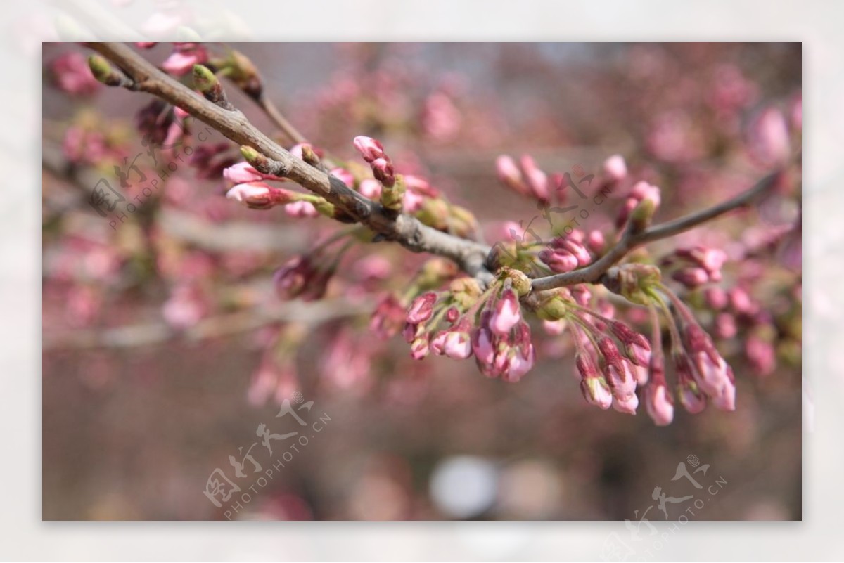
[[[324,197],[355,221],[381,234],[383,239],[398,242],[414,252],[428,252],[454,260],[463,271],[480,281],[492,279],[492,274],[484,266],[484,259],[490,251],[488,246],[442,233],[405,214],[391,217],[378,203],[351,190],[342,180],[306,164],[279,147],[240,111],[226,111],[203,99],[155,68],[131,47],[121,43],[89,43],[88,46],[120,67],[135,81],[138,90],[181,107],[231,141],[253,147],[272,158],[290,180]]]

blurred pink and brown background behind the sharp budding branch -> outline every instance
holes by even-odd
[[[622,154],[662,187],[657,218],[676,217],[758,178],[749,131],[771,106],[793,115],[800,95],[798,44],[236,48],[312,142],[352,158],[354,136],[378,137],[400,171],[424,174],[475,212],[490,240],[502,222],[537,214],[496,179],[500,153],[589,173]],[[160,64],[170,46],[143,53]],[[401,338],[381,342],[366,324],[372,296],[400,287],[393,272],[421,258],[354,249],[325,302],[279,303],[273,269],[336,227],[226,201],[227,184],[208,171],[233,152],[211,163],[159,155],[176,170],[152,196],[127,190],[136,212],[112,226],[93,211],[90,190],[100,178],[120,185],[112,170],[122,156],[149,162],[135,116],[151,98],[62,81],[75,54],[88,53],[44,46],[44,519],[635,521],[650,507],[657,520],[655,487],[692,494],[673,478],[695,458],[709,464],[696,480],[724,484],[693,519],[801,518],[799,340],[797,351],[777,342],[775,364],[760,366],[744,335],[722,339],[737,410],[678,408],[667,427],[644,412],[587,406],[565,339],[545,342],[515,385],[484,378],[473,362],[414,362]],[[229,93],[273,131],[250,100]],[[215,132],[203,141],[201,131],[192,125],[188,141],[197,155],[225,142]],[[778,212],[753,210],[662,246],[751,244]],[[777,259],[785,261],[760,260],[766,282],[753,298],[779,321],[799,312],[799,273]],[[268,394],[262,367],[279,342],[289,362]],[[292,389],[313,401],[297,412],[311,429],[322,418],[321,430],[261,485],[281,458],[263,450],[256,429],[295,431],[292,417],[275,417]],[[215,506],[203,494],[209,475],[219,468],[234,479],[229,456],[241,459],[256,440],[262,472],[246,462],[243,491]],[[273,442],[276,456],[289,450],[282,443]],[[243,492],[250,501],[235,511]],[[669,504],[666,519],[686,506]]]

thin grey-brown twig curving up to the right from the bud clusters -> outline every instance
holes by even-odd
[[[776,177],[779,173],[770,174],[757,182],[752,188],[746,190],[733,197],[728,201],[723,201],[716,206],[707,207],[700,212],[690,213],[674,221],[668,221],[654,227],[648,228],[641,233],[632,233],[630,228],[625,230],[618,243],[616,243],[607,254],[601,256],[592,264],[587,265],[580,270],[566,272],[565,274],[555,274],[554,276],[540,277],[531,281],[534,292],[541,292],[547,289],[554,289],[555,287],[571,286],[576,283],[596,283],[599,282],[601,276],[609,270],[619,260],[623,259],[630,250],[635,249],[642,244],[652,243],[656,240],[667,239],[675,234],[688,231],[690,228],[695,228],[701,223],[711,221],[716,217],[722,216],[724,213],[738,209],[738,207],[746,206],[750,202],[755,201],[767,190],[770,190],[776,184]]]

